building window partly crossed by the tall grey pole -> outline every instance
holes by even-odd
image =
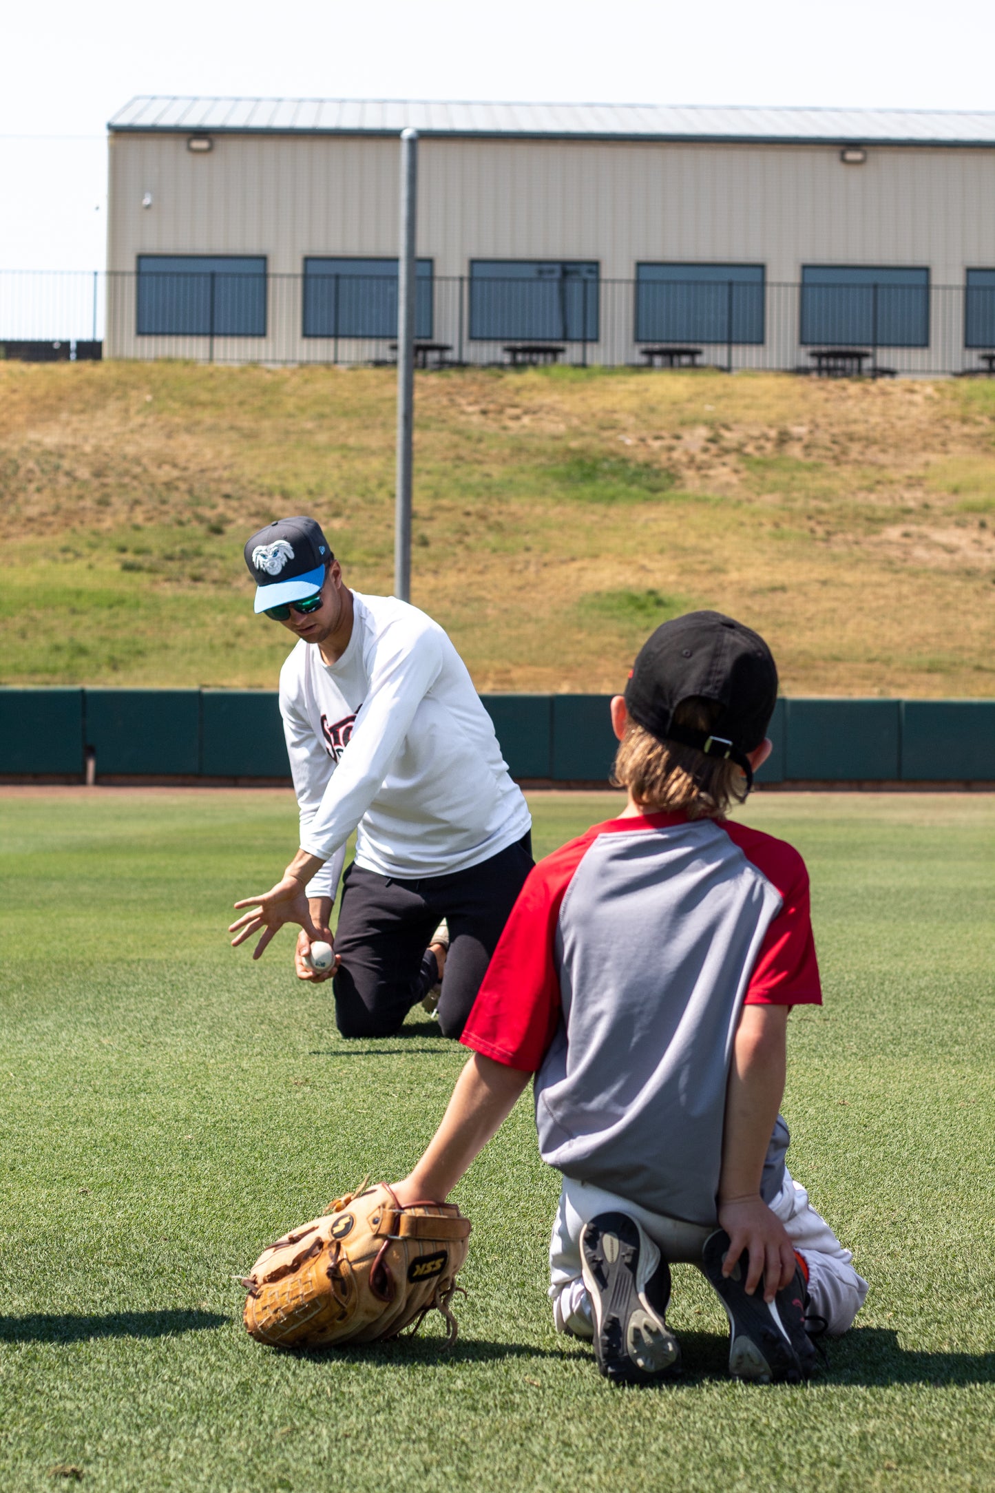
[[[415,336],[433,334],[433,261],[415,267]],[[397,260],[304,260],[306,337],[397,337]]]

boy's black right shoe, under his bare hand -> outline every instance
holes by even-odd
[[[737,1260],[729,1277],[722,1262],[729,1247],[725,1229],[709,1235],[701,1251],[703,1271],[715,1285],[729,1318],[729,1374],[734,1380],[798,1384],[816,1366],[816,1350],[806,1327],[807,1290],[801,1269],[765,1302],[764,1281],[746,1294],[746,1260]]]

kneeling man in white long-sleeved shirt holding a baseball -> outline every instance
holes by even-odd
[[[298,923],[300,979],[331,979],[348,1038],[391,1036],[421,1003],[458,1038],[533,869],[531,815],[467,667],[431,617],[342,579],[321,527],[280,518],[246,540],[255,609],[297,639],[280,715],[300,850],[270,891],[245,897],[233,944],[254,959]],[[312,942],[333,944],[321,972]]]

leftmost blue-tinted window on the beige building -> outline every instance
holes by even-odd
[[[266,257],[139,254],[140,337],[264,337]]]

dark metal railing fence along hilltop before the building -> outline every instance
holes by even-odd
[[[118,358],[392,363],[395,275],[309,264],[318,269],[303,275],[0,270],[0,352],[79,339]],[[995,363],[995,285],[879,284],[870,272],[865,284],[838,285],[445,276],[427,264],[416,296],[427,367],[559,361],[885,376],[985,373]],[[850,355],[816,357],[826,349]]]

